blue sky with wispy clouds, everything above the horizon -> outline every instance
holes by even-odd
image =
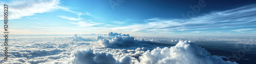
[[[5,0],[0,3],[9,5],[11,34],[255,36],[256,33],[256,1]]]

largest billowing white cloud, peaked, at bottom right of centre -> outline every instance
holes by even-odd
[[[148,50],[139,58],[142,64],[236,64],[236,62],[224,61],[219,56],[211,56],[194,42],[183,40],[174,47]]]

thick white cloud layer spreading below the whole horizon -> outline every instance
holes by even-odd
[[[86,37],[86,36],[83,36]],[[10,60],[1,63],[111,63],[111,64],[168,64],[168,63],[236,63],[222,56],[211,55],[192,41],[242,41],[252,37],[132,37],[130,34],[101,34],[93,38],[42,37],[12,38]],[[108,40],[108,41],[105,41]],[[162,44],[164,40],[169,41]],[[178,42],[178,40],[180,40]],[[216,40],[216,41],[213,41]],[[4,40],[0,40],[4,41]],[[103,41],[103,42],[102,42]],[[104,42],[105,41],[105,42]],[[155,42],[153,42],[155,41]],[[250,41],[253,42],[253,38]],[[178,42],[178,44],[176,43]],[[26,43],[26,44],[24,44]],[[108,45],[104,45],[107,43]],[[208,42],[204,42],[208,43]],[[168,46],[175,44],[175,46]],[[199,44],[199,43],[198,43]],[[212,43],[209,43],[211,45]],[[227,43],[228,44],[228,43]],[[215,45],[215,44],[214,44]],[[237,45],[237,44],[233,44]],[[253,44],[250,44],[253,45]],[[0,49],[3,50],[3,49]],[[252,51],[253,52],[253,51]],[[0,53],[3,55],[3,53]],[[231,54],[230,54],[231,55]],[[3,56],[0,56],[3,57]],[[249,59],[251,60],[251,59]]]

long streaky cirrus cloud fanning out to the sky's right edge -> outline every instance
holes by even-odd
[[[126,32],[175,32],[186,30],[210,30],[234,28],[251,29],[256,27],[256,4],[236,9],[211,12],[197,17],[186,19],[151,18],[144,20],[146,24],[134,24],[110,29]]]

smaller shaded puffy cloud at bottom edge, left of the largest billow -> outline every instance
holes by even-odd
[[[130,64],[131,58],[124,56],[120,60],[116,60],[112,54],[105,52],[93,52],[91,49],[84,51],[76,51],[72,53],[74,59],[73,64]]]

